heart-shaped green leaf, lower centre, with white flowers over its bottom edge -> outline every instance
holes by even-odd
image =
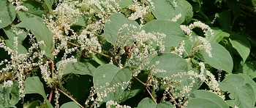
[[[128,67],[120,69],[115,65],[108,64],[97,67],[94,72],[93,82],[99,94],[106,94],[106,96],[101,96],[102,101],[118,101],[131,78],[132,72]],[[110,91],[108,88],[113,88],[113,90]],[[109,92],[105,93],[105,91]]]

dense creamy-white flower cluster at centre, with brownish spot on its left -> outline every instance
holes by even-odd
[[[123,33],[124,31],[126,32]],[[165,50],[165,46],[162,44],[164,38],[165,34],[163,33],[137,31],[134,25],[125,24],[118,31],[113,55],[116,55],[115,59],[121,59],[122,54],[128,54],[125,66],[135,67],[132,75],[137,76],[140,70],[147,68],[151,55]],[[121,60],[119,60],[119,64],[121,64]]]

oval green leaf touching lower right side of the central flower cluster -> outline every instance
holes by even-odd
[[[156,55],[151,59],[149,65],[155,65],[157,61],[159,61],[159,65],[155,66],[154,69],[166,70],[166,72],[156,73],[158,78],[165,78],[178,72],[187,72],[188,70],[187,61],[176,54],[163,53]]]

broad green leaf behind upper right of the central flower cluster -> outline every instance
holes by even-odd
[[[171,46],[178,46],[185,38],[179,25],[168,20],[152,20],[146,23],[142,30],[145,30],[147,33],[164,33],[166,37],[164,38],[165,43],[163,45],[167,52],[170,51]]]

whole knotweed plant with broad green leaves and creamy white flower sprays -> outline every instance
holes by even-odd
[[[232,74],[219,42],[248,54],[229,33],[192,20],[186,0],[0,7],[0,107],[255,106],[256,83]]]

